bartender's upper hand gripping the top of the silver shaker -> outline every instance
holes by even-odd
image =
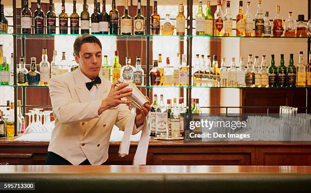
[[[132,95],[132,88],[125,88],[129,86],[128,83],[120,84],[116,87],[115,84],[111,85],[111,89],[106,99],[102,100],[102,106],[98,110],[98,114],[101,114],[103,111],[116,107],[119,104],[130,104],[130,101],[122,101],[121,98],[128,97]]]

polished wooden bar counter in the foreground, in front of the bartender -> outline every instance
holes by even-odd
[[[35,182],[23,192],[309,193],[311,167],[16,165],[0,166],[0,182]]]

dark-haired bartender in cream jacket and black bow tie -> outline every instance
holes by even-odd
[[[46,165],[102,165],[108,159],[113,125],[124,131],[134,116],[127,106],[131,102],[122,100],[132,95],[132,89],[126,88],[128,84],[116,86],[99,74],[102,45],[97,37],[78,36],[73,47],[79,68],[49,82],[55,127]],[[132,135],[147,124],[150,110],[148,104],[136,108]]]

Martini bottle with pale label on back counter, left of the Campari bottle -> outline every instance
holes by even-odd
[[[170,101],[168,101],[168,107],[170,107],[171,104],[169,104]],[[168,108],[170,109],[170,108]],[[163,94],[160,95],[160,104],[158,105],[157,110],[155,110],[155,137],[161,137],[162,135],[166,135],[167,130],[167,118],[168,118],[168,110],[165,108],[164,102],[163,102]]]

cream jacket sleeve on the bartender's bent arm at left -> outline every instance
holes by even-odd
[[[101,100],[89,103],[74,102],[68,85],[61,81],[61,78],[50,79],[49,89],[53,112],[61,123],[84,122],[99,117]]]

